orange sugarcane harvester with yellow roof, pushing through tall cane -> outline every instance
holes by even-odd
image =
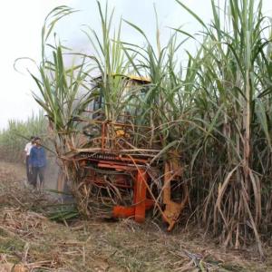
[[[128,77],[128,83],[144,85],[149,81]],[[89,111],[92,118],[79,120],[84,123],[88,144],[67,155],[76,165],[79,184],[91,199],[90,205],[99,199],[102,206],[111,207],[112,218],[139,223],[148,210],[157,210],[170,231],[189,199],[178,152],[169,151],[161,160],[160,144],[147,148],[141,141],[135,147],[134,138],[149,135],[151,128],[135,124],[128,112],[121,114],[121,121],[106,120],[102,112],[97,113],[101,103],[98,97]]]

